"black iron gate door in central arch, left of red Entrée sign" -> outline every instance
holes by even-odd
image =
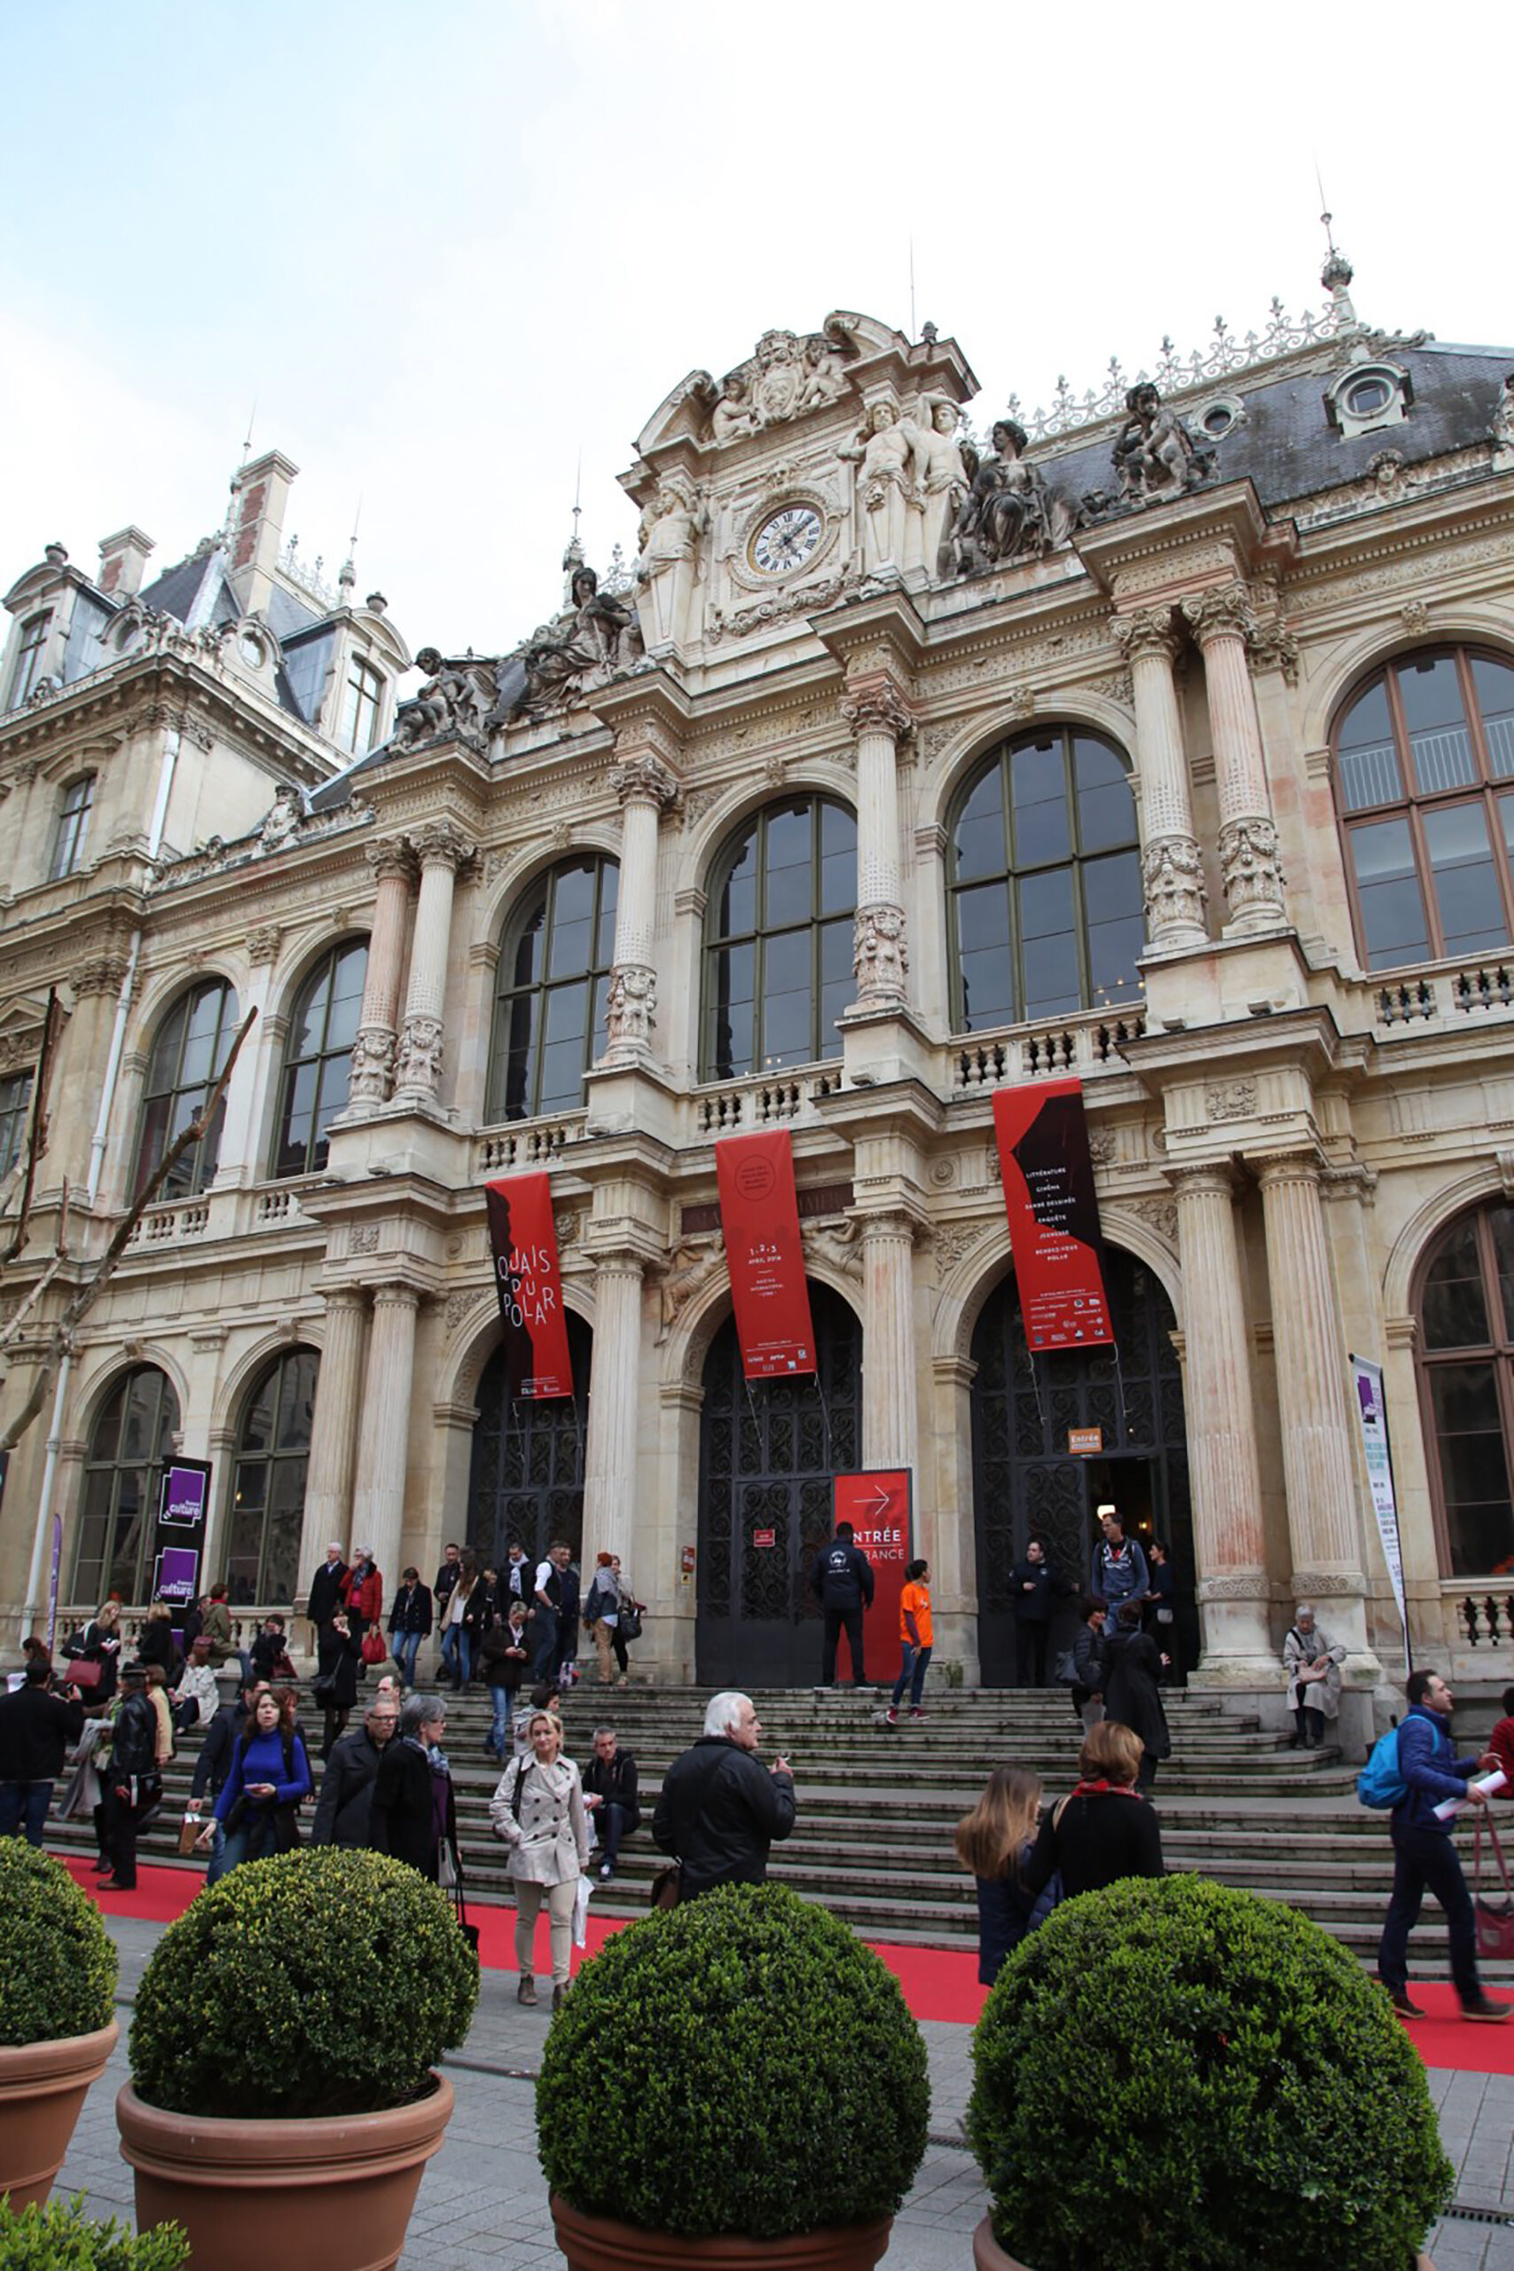
[[[810,1285],[819,1381],[742,1378],[735,1317],[704,1360],[699,1419],[699,1626],[706,1687],[819,1678],[810,1562],[831,1535],[831,1478],[858,1465],[863,1326]]]

